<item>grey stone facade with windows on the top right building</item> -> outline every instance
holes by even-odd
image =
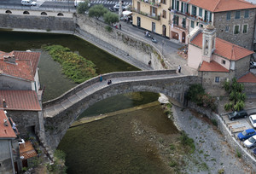
[[[235,19],[236,11],[231,11],[230,20],[226,20],[227,12],[214,13],[213,24],[217,28],[217,37],[241,47],[245,47],[246,49],[253,49],[255,10],[256,9],[249,9],[249,18],[247,19],[244,18],[245,10],[241,10],[240,19]],[[247,33],[242,33],[243,24],[248,25]],[[240,26],[240,32],[238,34],[234,34],[235,25]],[[230,26],[229,32],[225,32],[226,26]]]

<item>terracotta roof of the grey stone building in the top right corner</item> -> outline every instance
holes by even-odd
[[[244,0],[190,0],[189,3],[211,12],[256,8],[253,3]]]

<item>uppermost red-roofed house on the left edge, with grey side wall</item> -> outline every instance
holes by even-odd
[[[0,51],[0,90],[40,89],[38,62],[40,52]]]

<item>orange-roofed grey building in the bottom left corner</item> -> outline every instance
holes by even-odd
[[[0,109],[0,173],[15,173],[14,151],[18,151],[12,142],[15,138],[9,119],[3,109]]]

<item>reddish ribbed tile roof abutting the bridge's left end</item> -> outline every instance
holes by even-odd
[[[3,99],[7,107],[3,107]],[[5,110],[41,110],[37,93],[34,90],[0,90],[0,108]]]

